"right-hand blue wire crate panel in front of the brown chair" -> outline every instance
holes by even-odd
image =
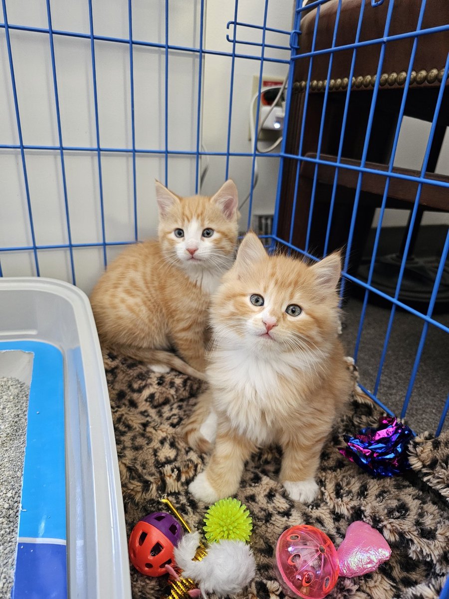
[[[424,208],[449,211],[449,170],[445,159],[437,164],[449,125],[447,13],[445,3],[426,0],[298,1],[292,32],[288,129],[273,240],[315,259],[344,246],[341,295],[347,296],[349,285],[352,292],[359,289],[362,298],[356,360],[369,301],[381,299],[389,305],[377,373],[371,389],[361,385],[387,412],[389,398],[381,401],[379,390],[396,313],[405,311],[421,320],[398,410],[402,418],[429,328],[449,332],[447,319],[434,313],[448,305],[447,218],[442,217],[438,259],[429,265],[413,257]],[[427,123],[421,164],[415,170],[396,161],[409,116]],[[434,174],[440,168],[444,174]],[[385,259],[379,248],[390,207],[406,208],[409,217],[402,247]],[[375,235],[363,264],[374,216]],[[420,288],[423,279],[425,289]],[[369,345],[369,339],[365,343]],[[432,404],[440,410],[439,434],[449,400],[439,397]]]

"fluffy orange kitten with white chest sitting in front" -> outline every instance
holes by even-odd
[[[341,258],[317,264],[267,256],[248,233],[211,301],[210,389],[187,422],[190,444],[216,440],[190,491],[205,503],[235,494],[256,447],[283,449],[280,480],[293,500],[309,502],[333,419],[351,380],[337,338]]]

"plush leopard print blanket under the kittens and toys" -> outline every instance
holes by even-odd
[[[128,534],[150,512],[164,511],[166,494],[193,530],[201,530],[206,505],[187,485],[204,468],[199,455],[181,436],[183,421],[195,405],[202,383],[170,371],[156,374],[144,364],[104,353]],[[354,373],[356,377],[356,373]],[[275,543],[286,528],[311,524],[338,547],[355,520],[377,528],[392,556],[377,571],[339,578],[329,599],[431,599],[439,596],[449,570],[449,433],[428,434],[411,443],[412,471],[405,477],[374,479],[343,458],[336,447],[342,434],[376,426],[380,411],[357,391],[321,454],[314,503],[295,504],[277,482],[281,455],[261,449],[247,464],[238,499],[253,518],[251,547],[256,577],[238,599],[283,598],[273,570]],[[131,566],[134,599],[158,599],[166,577],[148,578]]]

